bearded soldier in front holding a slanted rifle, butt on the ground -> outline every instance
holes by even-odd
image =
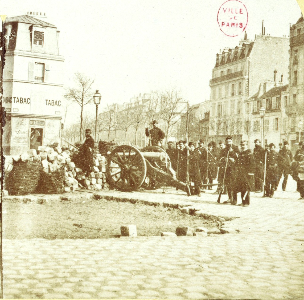
[[[224,203],[231,203],[233,205],[237,204],[237,189],[236,189],[236,165],[239,158],[240,150],[237,146],[233,145],[232,137],[226,137],[226,147],[222,149],[220,155],[220,161],[225,166],[226,162],[227,169],[225,175],[225,185],[227,187],[228,201]],[[229,154],[228,154],[229,153]]]

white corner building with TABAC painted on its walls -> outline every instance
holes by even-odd
[[[54,142],[60,145],[64,57],[59,55],[59,31],[40,16],[44,17],[31,12],[5,22],[5,155]]]

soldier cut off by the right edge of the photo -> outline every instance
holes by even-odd
[[[297,182],[297,190],[300,193],[299,200],[304,199],[304,145],[295,153],[295,162],[292,163],[291,174]]]

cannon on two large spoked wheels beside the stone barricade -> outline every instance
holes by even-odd
[[[124,192],[167,185],[185,191],[189,196],[186,184],[176,179],[168,154],[157,146],[141,150],[130,145],[115,148],[107,159],[107,179],[112,188]]]

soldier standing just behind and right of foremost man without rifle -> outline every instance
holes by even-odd
[[[261,141],[259,139],[254,140],[253,156],[255,162],[254,170],[254,182],[255,191],[260,193],[263,191],[263,180],[264,180],[264,163],[265,163],[265,150],[261,146]]]

